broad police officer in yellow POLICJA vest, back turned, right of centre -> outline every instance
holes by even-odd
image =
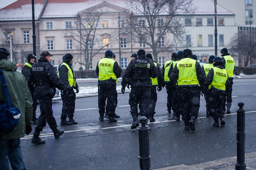
[[[181,115],[186,131],[196,130],[195,120],[200,107],[199,85],[202,87],[205,79],[203,68],[191,57],[191,49],[184,49],[183,58],[175,65],[170,76],[170,83],[178,81]]]

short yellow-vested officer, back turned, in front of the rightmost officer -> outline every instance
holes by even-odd
[[[228,73],[223,67],[224,61],[220,57],[213,59],[213,68],[209,71],[204,82],[204,88],[207,89],[209,97],[209,111],[214,119],[214,127],[219,127],[219,118],[221,126],[225,125],[223,106],[225,91],[230,91]],[[205,90],[204,90],[205,91]]]

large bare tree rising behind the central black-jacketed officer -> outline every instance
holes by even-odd
[[[184,44],[184,16],[191,17],[196,7],[192,0],[128,0],[133,13],[126,19],[132,40],[153,50],[157,62],[160,52]],[[127,28],[128,29],[128,28]]]

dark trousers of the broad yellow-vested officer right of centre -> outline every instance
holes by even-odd
[[[188,122],[191,116],[198,117],[200,107],[200,88],[199,87],[180,87],[179,88],[181,115],[184,122]]]

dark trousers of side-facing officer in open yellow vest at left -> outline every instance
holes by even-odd
[[[62,100],[62,112],[61,112],[61,120],[66,120],[68,117],[72,119],[74,117],[75,112],[75,92],[73,89],[69,89],[67,91],[61,91],[60,93]]]

